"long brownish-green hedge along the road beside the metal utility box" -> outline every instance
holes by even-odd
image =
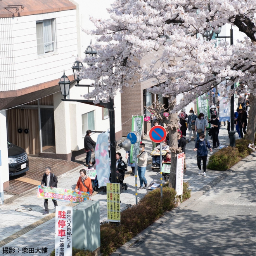
[[[183,200],[190,197],[189,183],[183,183]],[[121,225],[105,223],[100,226],[100,252],[107,256],[116,251],[123,244],[152,225],[166,211],[175,208],[175,189],[163,187],[146,194],[137,205],[121,212]],[[54,256],[54,252],[50,254]],[[72,256],[92,256],[92,252],[73,248]]]

